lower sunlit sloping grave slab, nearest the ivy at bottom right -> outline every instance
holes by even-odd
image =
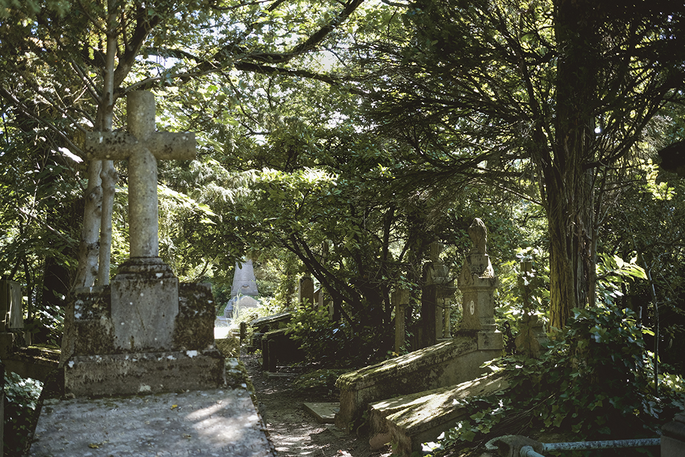
[[[485,396],[508,388],[502,375],[492,373],[455,386],[403,395],[369,406],[371,449],[393,443],[394,455],[410,456],[421,443],[435,441],[466,416],[463,399]]]

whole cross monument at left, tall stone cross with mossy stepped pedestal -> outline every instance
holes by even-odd
[[[94,132],[88,158],[128,160],[130,258],[111,285],[77,289],[60,367],[76,396],[223,385],[209,284],[179,284],[159,257],[157,160],[191,160],[195,135],[155,132],[151,92],[127,95],[128,132]]]

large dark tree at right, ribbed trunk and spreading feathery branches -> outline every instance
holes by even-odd
[[[381,134],[411,145],[423,188],[488,183],[544,209],[556,328],[595,301],[603,192],[626,182],[614,171],[682,97],[682,60],[667,51],[680,47],[682,12],[662,1],[421,0],[404,29],[358,47],[382,75],[366,107]]]

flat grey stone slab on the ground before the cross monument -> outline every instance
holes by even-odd
[[[31,457],[275,457],[245,388],[46,399]]]

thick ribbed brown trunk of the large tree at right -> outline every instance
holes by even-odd
[[[593,134],[597,27],[587,0],[556,1],[560,58],[553,158],[543,168],[549,226],[552,328],[562,329],[575,307],[586,306],[592,264]],[[596,18],[597,20],[601,18]]]

